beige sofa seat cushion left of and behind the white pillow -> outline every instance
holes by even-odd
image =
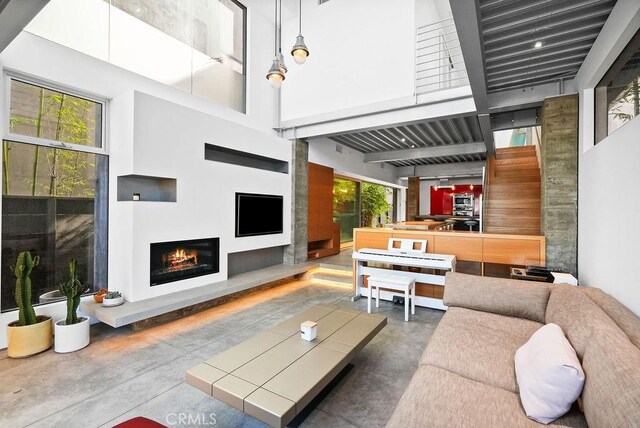
[[[542,324],[522,318],[450,307],[434,331],[421,364],[518,392],[516,350]]]

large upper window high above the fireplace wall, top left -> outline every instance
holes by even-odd
[[[246,8],[235,0],[51,0],[26,31],[246,111]]]

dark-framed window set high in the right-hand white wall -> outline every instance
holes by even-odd
[[[640,115],[640,30],[595,89],[596,143]]]

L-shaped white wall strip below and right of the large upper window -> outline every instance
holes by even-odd
[[[264,6],[264,4],[262,5]],[[277,92],[265,79],[271,64],[273,20],[248,9],[247,114],[185,93],[99,59],[22,32],[2,53],[0,64],[53,83],[106,98],[139,90],[227,120],[271,132],[276,124]],[[29,54],[25,54],[29,52]],[[266,64],[266,65],[265,65]]]

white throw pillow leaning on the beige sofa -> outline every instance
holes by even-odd
[[[548,424],[558,419],[582,392],[580,361],[557,324],[533,333],[516,351],[515,364],[522,406],[535,421]]]

